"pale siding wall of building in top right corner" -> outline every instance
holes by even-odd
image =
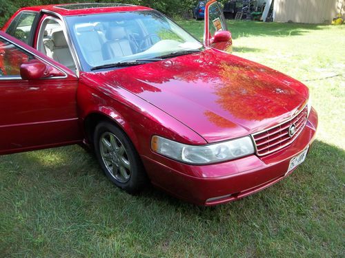
[[[295,23],[331,23],[341,13],[344,0],[275,0],[275,21]]]

